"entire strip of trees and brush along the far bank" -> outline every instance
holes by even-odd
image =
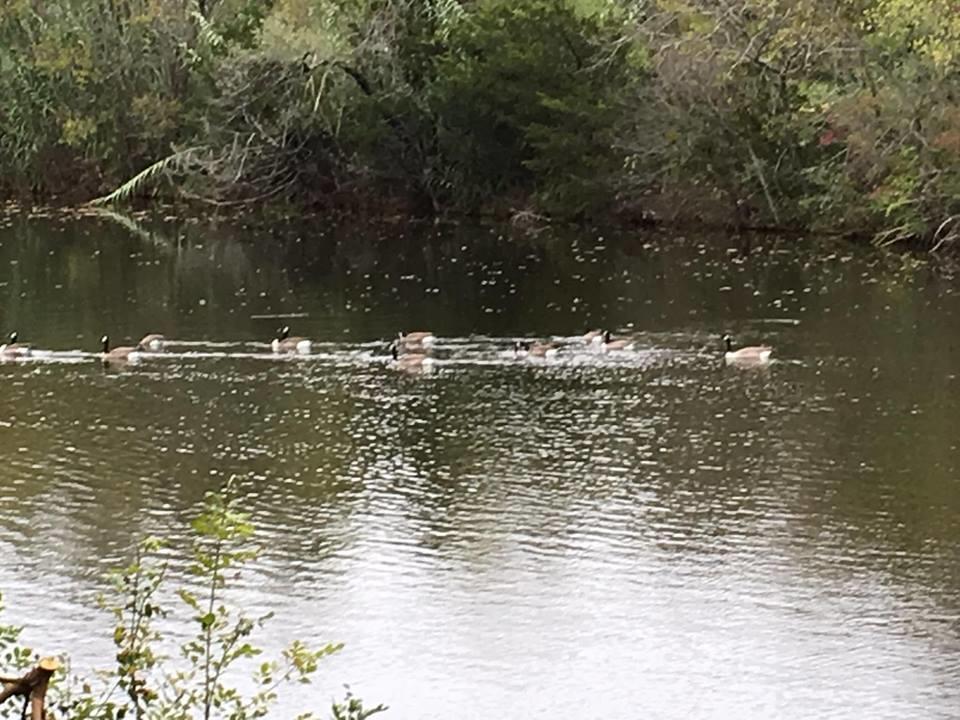
[[[8,196],[960,233],[947,0],[19,0],[0,48]]]

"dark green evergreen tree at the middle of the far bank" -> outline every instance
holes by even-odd
[[[602,204],[619,165],[610,129],[625,55],[614,40],[561,2],[479,3],[450,32],[431,86],[450,190],[532,189],[555,214]]]

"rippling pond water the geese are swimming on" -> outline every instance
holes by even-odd
[[[108,665],[102,572],[236,474],[265,643],[346,643],[297,709],[348,682],[418,720],[960,714],[960,296],[927,271],[796,239],[0,225],[4,333],[182,341],[0,363],[0,589],[42,652]],[[270,356],[276,314],[313,355]],[[391,368],[418,329],[434,371]],[[777,362],[726,367],[724,330]]]

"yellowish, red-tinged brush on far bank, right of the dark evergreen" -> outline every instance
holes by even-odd
[[[633,126],[666,125],[635,156],[641,181],[882,242],[929,236],[960,209],[960,26],[942,0],[660,0],[651,15],[674,22],[640,26],[658,77]]]

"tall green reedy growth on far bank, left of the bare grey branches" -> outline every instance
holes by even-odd
[[[58,191],[91,166],[127,172],[168,145],[200,76],[186,3],[63,0],[0,9],[0,166]],[[88,183],[89,186],[89,183]]]

